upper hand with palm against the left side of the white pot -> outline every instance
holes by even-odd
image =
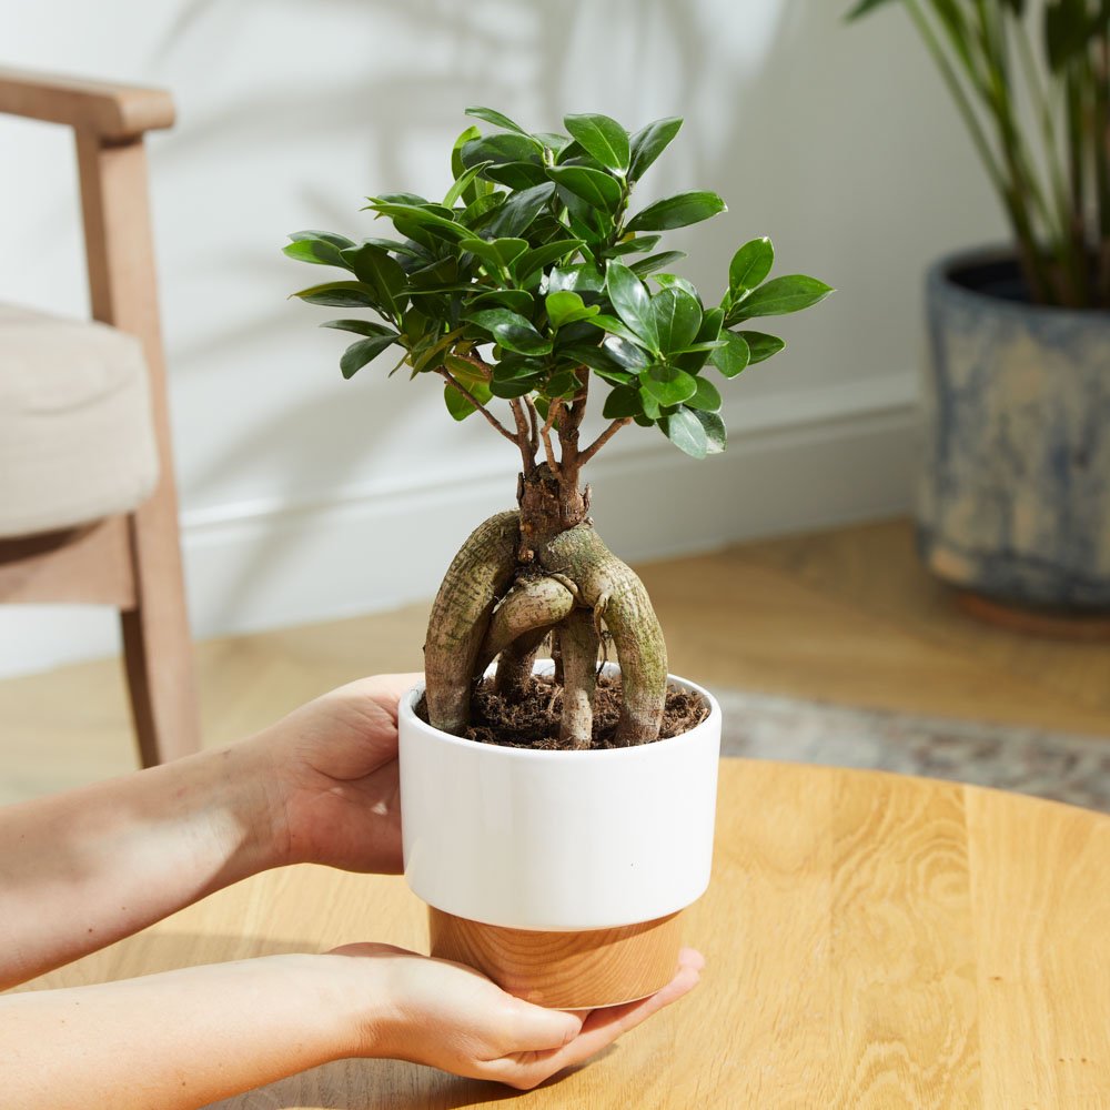
[[[422,677],[376,675],[341,686],[251,741],[271,768],[276,862],[401,870],[397,702]]]

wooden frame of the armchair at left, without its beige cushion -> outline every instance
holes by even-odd
[[[172,124],[173,102],[161,90],[0,69],[0,112],[73,129],[92,315],[141,343],[158,457],[154,467],[152,448],[153,493],[127,511],[0,538],[0,602],[120,610],[139,751],[150,766],[199,747],[143,143],[147,131]]]

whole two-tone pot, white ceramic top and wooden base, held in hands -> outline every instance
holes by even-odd
[[[428,905],[433,956],[564,1009],[670,980],[679,914],[709,884],[720,750],[716,700],[670,682],[709,716],[669,739],[591,751],[452,736],[416,715],[422,686],[402,699],[405,878]]]

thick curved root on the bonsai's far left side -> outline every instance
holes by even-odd
[[[424,644],[427,715],[445,733],[466,728],[474,664],[494,604],[516,571],[518,544],[518,513],[497,513],[480,524],[452,559],[432,605]]]

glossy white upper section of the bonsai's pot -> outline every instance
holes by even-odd
[[[551,662],[537,664],[549,673]],[[612,667],[612,669],[616,669]],[[672,739],[602,751],[478,744],[400,707],[405,878],[436,909],[557,932],[650,921],[709,884],[720,706]]]

